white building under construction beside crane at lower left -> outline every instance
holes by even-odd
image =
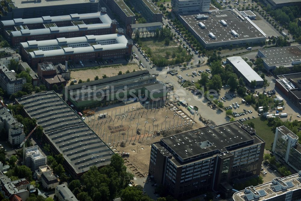
[[[25,165],[32,171],[38,170],[40,166],[46,165],[46,157],[39,151],[38,146],[25,149]]]

